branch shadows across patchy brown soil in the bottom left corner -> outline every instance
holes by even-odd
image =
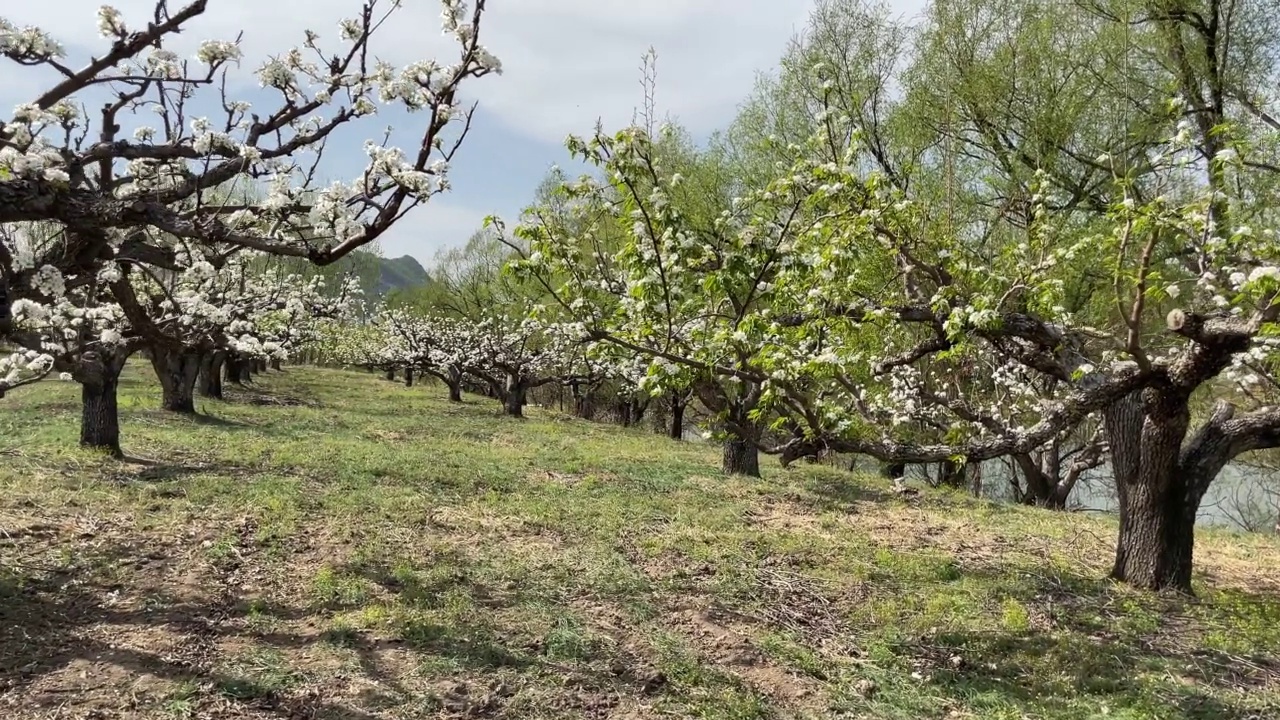
[[[24,542],[50,541],[69,542]],[[191,565],[172,548],[104,538],[77,552],[72,569],[0,560],[0,694],[31,712],[142,716],[172,714],[172,703],[196,717],[371,720],[390,706],[429,708],[424,693],[435,691],[403,684],[419,679],[417,666],[428,661],[454,667],[453,685],[470,683],[449,691],[460,697],[444,697],[443,707],[452,702],[483,715],[497,714],[511,694],[490,683],[495,673],[507,671],[509,680],[509,671],[552,671],[563,692],[585,694],[626,682],[585,666],[564,676],[518,638],[448,614],[413,612],[413,603],[445,593],[502,602],[465,577],[413,583],[367,569],[404,596],[397,603],[404,618],[393,619],[388,633],[333,625],[323,609],[239,596],[234,566],[243,559],[224,557],[218,562],[232,568],[225,578],[201,578],[184,589],[174,575]],[[337,674],[323,661],[335,652],[349,659]]]

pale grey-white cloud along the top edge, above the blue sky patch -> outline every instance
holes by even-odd
[[[83,60],[106,41],[97,36],[95,0],[26,3],[8,19],[37,24]],[[170,0],[170,8],[184,5]],[[115,0],[131,27],[151,19],[154,0]],[[384,0],[383,6],[389,6]],[[641,105],[640,56],[658,51],[657,105],[694,132],[724,124],[750,90],[756,70],[773,65],[808,14],[810,0],[490,0],[481,41],[504,74],[468,88],[486,110],[530,138],[559,143],[570,132],[628,123]],[[337,47],[337,23],[360,10],[358,0],[218,0],[175,38],[191,55],[205,38],[243,31],[248,70],[297,44],[305,28]],[[410,0],[380,31],[376,53],[397,64],[452,55],[439,32],[439,4]],[[5,92],[10,96],[10,92]]]

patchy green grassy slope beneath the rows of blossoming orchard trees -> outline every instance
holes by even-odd
[[[5,717],[1280,716],[1275,538],[1201,534],[1162,600],[1100,580],[1106,519],[333,370],[193,421],[128,373],[131,462],[76,386],[0,405]]]

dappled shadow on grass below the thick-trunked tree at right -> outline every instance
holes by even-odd
[[[1169,720],[1280,717],[1280,705],[1258,694],[1280,694],[1277,648],[1233,655],[1203,647],[1211,628],[1192,616],[1198,601],[1071,575],[1027,582],[1012,568],[964,573],[1004,584],[1001,594],[1015,603],[991,612],[1011,612],[1012,624],[1027,628],[942,629],[896,648],[957,701],[995,696],[1046,716],[1079,712],[1084,700]],[[1252,601],[1280,609],[1274,597]]]

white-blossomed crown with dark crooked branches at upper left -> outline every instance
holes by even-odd
[[[282,359],[315,341],[321,320],[358,305],[351,281],[325,288],[316,278],[248,265],[259,252],[330,263],[449,190],[449,158],[461,138],[451,147],[444,137],[467,120],[457,90],[502,65],[479,42],[481,10],[458,0],[442,1],[442,31],[456,42],[456,60],[366,65],[376,28],[394,22],[399,6],[374,0],[360,19],[343,20],[334,33],[342,44],[337,53],[307,31],[301,46],[261,60],[253,69],[276,95],[275,108],[227,96],[227,73],[244,60],[238,41],[204,40],[191,58],[172,49],[174,33],[204,6],[174,9],[160,24],[143,22],[150,17],[131,23],[119,9],[101,6],[96,20],[105,42],[91,60],[96,74],[51,86],[38,102],[0,115],[0,183],[9,183],[14,197],[38,201],[0,208],[0,227],[33,223],[44,233],[38,241],[27,231],[0,233],[4,302],[12,306],[5,307],[12,319],[0,315],[6,348],[0,392],[47,374],[87,343],[123,341],[132,331],[113,288],[125,269],[129,304],[156,331],[244,356]],[[0,18],[0,55],[58,69],[54,61],[67,51],[47,32]],[[150,82],[155,78],[169,83]],[[115,95],[101,120],[81,111],[91,87]],[[191,113],[195,106],[211,111]],[[406,151],[370,141],[364,170],[316,187],[330,135],[390,106],[416,113],[421,142]],[[132,137],[119,135],[122,124],[134,127]],[[379,126],[366,137],[385,135]],[[52,192],[76,200],[49,201]],[[72,206],[99,214],[77,223],[104,232],[68,237],[63,214]],[[68,254],[63,245],[79,250]],[[128,263],[118,258],[125,250]],[[68,263],[73,256],[79,260]],[[154,258],[160,260],[151,265]]]

